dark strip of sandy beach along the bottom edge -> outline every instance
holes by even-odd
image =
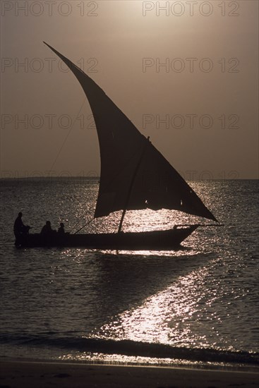
[[[0,388],[258,387],[259,373],[167,367],[1,361]]]

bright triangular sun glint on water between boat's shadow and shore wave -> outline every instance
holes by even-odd
[[[179,277],[164,291],[147,298],[140,307],[127,310],[104,325],[98,337],[188,348],[222,348],[218,344],[222,342],[223,346],[224,340],[217,332],[221,319],[213,310],[217,290],[207,292],[203,282],[207,276],[208,269],[203,267]],[[213,341],[215,338],[217,344]],[[231,350],[231,346],[227,348]]]

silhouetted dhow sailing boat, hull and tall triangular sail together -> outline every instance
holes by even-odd
[[[44,42],[45,43],[45,42]],[[47,43],[45,43],[47,44]],[[95,218],[123,210],[116,233],[25,234],[20,246],[64,246],[108,250],[173,250],[200,224],[173,229],[121,231],[126,210],[179,210],[217,222],[180,174],[145,138],[104,91],[78,66],[47,46],[71,69],[83,87],[100,143],[100,187]],[[219,224],[214,224],[219,225]],[[16,244],[17,245],[17,244]]]

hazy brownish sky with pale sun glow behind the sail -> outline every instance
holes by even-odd
[[[258,1],[2,0],[2,177],[100,174],[89,104],[43,40],[185,178],[258,178]]]

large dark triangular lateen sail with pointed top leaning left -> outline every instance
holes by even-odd
[[[101,156],[95,217],[116,210],[164,208],[217,221],[188,183],[104,91],[78,66],[47,46],[76,75],[95,119]]]

